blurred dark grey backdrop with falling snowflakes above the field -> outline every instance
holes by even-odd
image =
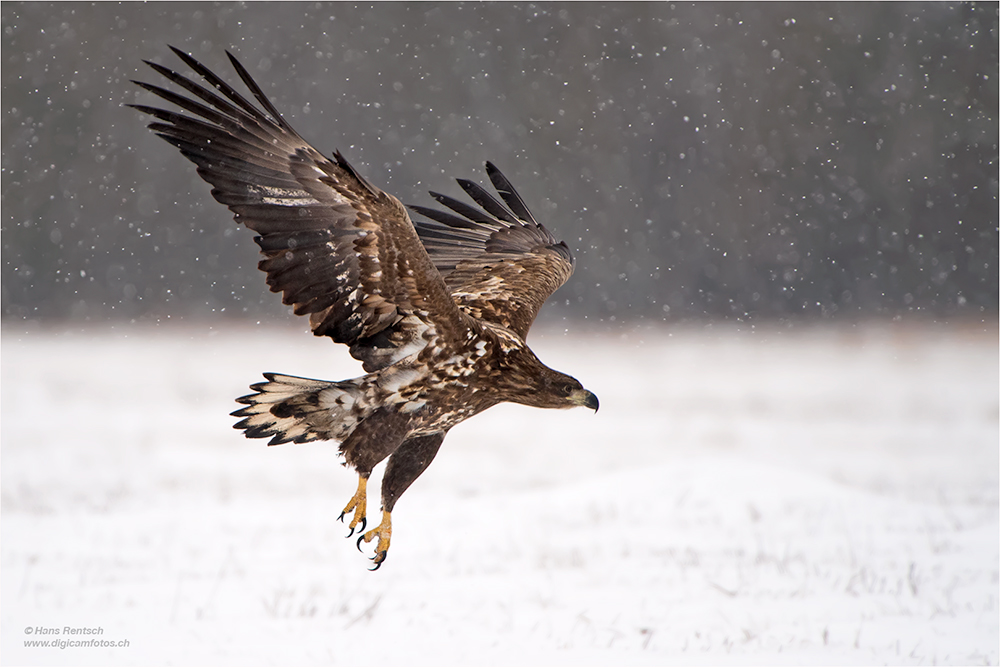
[[[995,317],[988,4],[2,5],[5,321],[291,317],[122,106],[173,44],[406,203],[492,160],[574,250],[542,319]],[[241,84],[240,84],[241,86]]]

